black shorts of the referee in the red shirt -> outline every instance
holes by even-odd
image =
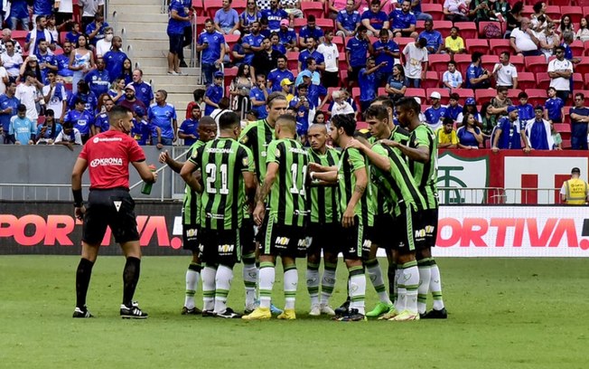
[[[107,226],[117,243],[138,241],[135,201],[126,188],[90,190],[82,241],[97,245],[102,242]]]

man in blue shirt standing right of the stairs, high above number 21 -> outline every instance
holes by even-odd
[[[225,58],[225,37],[220,32],[215,31],[215,24],[210,18],[204,22],[204,31],[199,35],[196,51],[201,52],[202,81],[205,85],[210,85],[213,73],[220,68]]]

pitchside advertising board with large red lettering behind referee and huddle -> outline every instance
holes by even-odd
[[[0,254],[79,254],[71,203],[0,203]],[[441,206],[438,257],[587,257],[584,206]],[[180,203],[136,205],[145,255],[185,255]],[[108,232],[102,254],[118,255]]]

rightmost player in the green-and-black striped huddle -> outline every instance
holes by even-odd
[[[401,99],[397,102],[397,115],[401,127],[411,133],[408,145],[401,145],[395,141],[388,141],[391,147],[397,147],[407,156],[409,170],[419,188],[419,193],[425,198],[425,211],[422,214],[422,224],[416,224],[416,231],[425,231],[423,240],[416,240],[416,259],[419,267],[419,290],[417,306],[421,317],[446,318],[447,313],[442,298],[442,283],[440,270],[432,258],[432,247],[437,237],[438,197],[437,197],[437,143],[432,128],[419,120],[420,105],[415,99]],[[428,289],[434,296],[434,308],[425,313]]]

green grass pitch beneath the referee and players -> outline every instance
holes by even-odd
[[[136,293],[145,321],[118,317],[122,257],[100,257],[94,319],[73,319],[78,257],[0,256],[3,368],[586,368],[589,260],[438,259],[447,320],[341,323],[308,317],[299,262],[297,320],[180,315],[188,257],[149,257]],[[386,267],[386,260],[381,261]],[[332,298],[344,298],[340,264]],[[283,306],[282,269],[274,302]],[[201,290],[197,292],[201,306]],[[241,267],[229,306],[243,307]],[[369,284],[367,307],[377,298]],[[428,299],[431,306],[431,297]]]

